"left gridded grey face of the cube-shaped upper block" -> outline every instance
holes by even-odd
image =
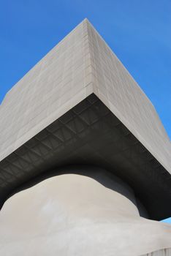
[[[0,106],[0,160],[89,95],[86,21],[7,93]]]

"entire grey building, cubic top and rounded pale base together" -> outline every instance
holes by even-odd
[[[88,20],[0,116],[0,255],[171,255],[170,139]]]

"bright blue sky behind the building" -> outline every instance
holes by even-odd
[[[88,18],[151,99],[171,138],[170,0],[0,0],[0,7],[0,102]]]

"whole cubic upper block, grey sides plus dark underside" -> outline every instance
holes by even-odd
[[[81,164],[126,181],[151,219],[171,216],[170,139],[88,20],[7,93],[0,118],[1,205],[31,179]]]

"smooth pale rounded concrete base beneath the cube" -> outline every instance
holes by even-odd
[[[132,189],[110,182],[64,174],[13,195],[0,211],[0,255],[169,256],[171,225],[140,217]]]

